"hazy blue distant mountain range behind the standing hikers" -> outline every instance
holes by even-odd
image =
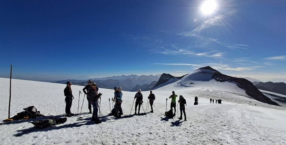
[[[161,75],[122,75],[105,78],[95,78],[92,80],[97,84],[99,88],[113,89],[114,87],[121,86],[122,90],[125,91],[137,91],[139,88],[141,88],[142,91],[145,91],[151,90],[154,84],[157,83],[160,76]],[[55,81],[54,83],[65,84],[67,81],[72,82],[74,85],[86,86],[88,80],[67,79]]]

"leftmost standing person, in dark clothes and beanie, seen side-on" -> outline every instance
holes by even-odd
[[[70,81],[67,81],[67,87],[64,88],[64,96],[66,96],[66,98],[64,99],[64,101],[66,102],[66,117],[71,117],[72,115],[74,115],[74,113],[71,113],[71,103],[74,96],[72,95]]]

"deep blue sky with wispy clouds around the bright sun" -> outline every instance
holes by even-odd
[[[1,1],[0,77],[225,75],[286,78],[284,0]]]

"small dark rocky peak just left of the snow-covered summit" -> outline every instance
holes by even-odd
[[[172,76],[170,74],[163,73],[152,90],[160,88],[160,87],[168,85],[168,84],[171,84],[171,83],[174,83],[176,81],[179,81],[184,76],[185,75],[183,75],[182,77],[174,77],[174,76]]]

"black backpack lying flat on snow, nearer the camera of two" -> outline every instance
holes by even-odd
[[[51,117],[51,118],[48,118],[48,119],[42,119],[42,120],[33,121],[33,122],[29,122],[29,123],[32,123],[34,125],[34,127],[36,127],[36,128],[46,128],[46,127],[49,127],[49,126],[55,126],[57,124],[62,124],[64,122],[66,122],[66,121],[67,121],[67,117],[64,117],[64,118]]]

